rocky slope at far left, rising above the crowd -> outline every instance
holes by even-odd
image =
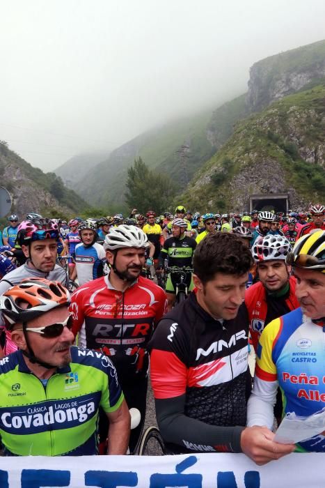
[[[69,217],[89,209],[86,201],[68,190],[61,178],[32,167],[3,141],[0,141],[0,175],[1,185],[13,199],[10,212],[19,217],[29,212],[45,217]]]

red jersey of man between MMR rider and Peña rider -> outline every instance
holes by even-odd
[[[299,301],[296,298],[296,278],[290,277],[290,289],[284,296],[276,297],[274,306],[275,317],[270,317],[269,307],[272,307],[272,294],[268,296],[267,289],[261,282],[257,282],[250,287],[245,293],[245,305],[248,311],[249,328],[251,333],[252,344],[254,349],[257,348],[257,342],[262,334],[262,330],[271,320],[280,317],[280,315],[290,312],[299,307]],[[280,307],[280,309],[279,309]],[[279,312],[280,310],[280,312]],[[268,319],[268,321],[267,321]]]

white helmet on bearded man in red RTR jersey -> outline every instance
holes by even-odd
[[[105,236],[104,250],[122,249],[122,247],[148,247],[148,237],[142,229],[134,225],[119,225],[111,227]]]

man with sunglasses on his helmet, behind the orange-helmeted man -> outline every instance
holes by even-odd
[[[19,224],[18,232],[19,244],[28,259],[23,266],[10,271],[2,278],[0,295],[26,277],[48,278],[65,285],[67,281],[65,271],[56,264],[58,229],[54,229],[51,220],[35,219],[33,222],[24,220]],[[10,333],[6,333],[3,353],[8,354],[15,349]]]

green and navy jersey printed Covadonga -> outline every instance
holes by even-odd
[[[123,400],[116,369],[102,353],[71,348],[70,365],[44,386],[21,351],[0,360],[0,436],[5,455],[97,454],[97,416]]]

